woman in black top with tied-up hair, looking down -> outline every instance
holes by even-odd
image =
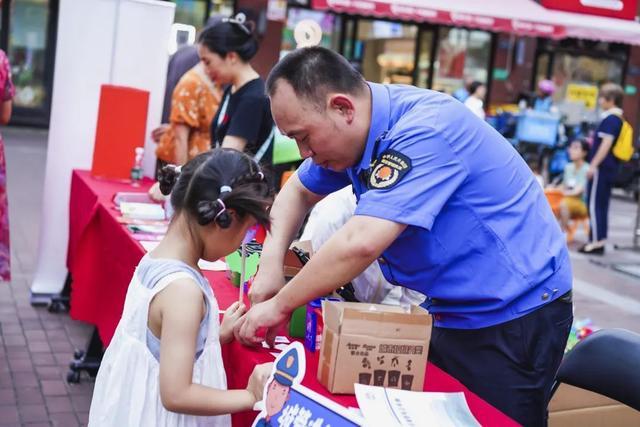
[[[258,51],[244,15],[206,28],[198,39],[198,55],[209,77],[228,85],[211,122],[211,146],[244,151],[263,164],[273,157],[273,119],[264,82],[249,60]]]

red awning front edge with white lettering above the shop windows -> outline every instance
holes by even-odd
[[[339,13],[467,26],[487,31],[517,33],[526,36],[562,38],[565,35],[565,28],[562,25],[497,18],[491,15],[451,12],[433,7],[401,5],[388,1],[312,0],[311,6],[314,9],[331,10]]]

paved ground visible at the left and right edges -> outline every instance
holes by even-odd
[[[1,129],[6,146],[13,281],[0,283],[0,426],[85,425],[93,383],[65,382],[73,350],[83,348],[91,328],[67,314],[29,304],[37,261],[46,133]],[[628,244],[636,207],[615,198],[612,242]],[[578,235],[573,249],[584,239]],[[575,311],[601,327],[640,332],[640,279],[613,271],[618,261],[640,265],[640,255],[608,251],[590,259],[572,251]],[[596,260],[598,263],[594,263]]]

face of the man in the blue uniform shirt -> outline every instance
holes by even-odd
[[[357,144],[354,111],[349,96],[332,102],[331,95],[322,106],[298,97],[291,85],[279,80],[271,96],[271,113],[280,131],[295,139],[303,158],[327,169],[342,171],[362,156]]]

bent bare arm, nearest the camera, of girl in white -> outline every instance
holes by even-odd
[[[218,390],[191,381],[198,328],[204,315],[202,302],[202,291],[189,279],[176,280],[151,302],[152,305],[159,304],[161,313],[162,404],[168,411],[190,415],[222,415],[251,410],[261,390],[257,393],[249,389]],[[224,366],[217,368],[224,369]],[[259,384],[260,387],[263,385],[264,382]],[[254,384],[253,389],[256,388]]]

